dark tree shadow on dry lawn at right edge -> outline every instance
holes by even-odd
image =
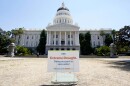
[[[130,71],[130,60],[110,62],[109,64],[114,64],[113,66],[110,67],[118,68],[124,71]]]

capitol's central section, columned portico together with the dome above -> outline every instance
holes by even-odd
[[[79,27],[73,25],[69,9],[62,6],[57,10],[52,25],[48,25],[46,54],[48,50],[80,50]]]

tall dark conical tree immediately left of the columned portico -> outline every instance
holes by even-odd
[[[45,48],[46,48],[46,32],[45,30],[42,30],[40,35],[39,44],[37,46],[37,51],[39,54],[45,54]]]

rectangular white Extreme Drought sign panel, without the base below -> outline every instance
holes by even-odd
[[[48,72],[78,72],[79,51],[48,51]]]

